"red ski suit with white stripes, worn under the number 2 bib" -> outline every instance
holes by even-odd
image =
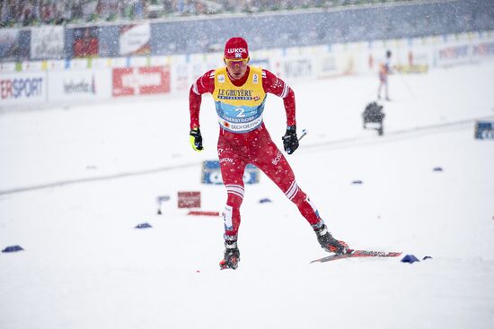
[[[240,80],[230,79],[229,74],[226,74],[228,76],[224,78],[229,79],[229,82],[232,82],[236,87],[242,87],[249,76],[250,69],[251,67],[248,67],[247,73]],[[261,72],[263,90],[283,98],[287,112],[287,126],[295,126],[294,91],[268,70],[262,69]],[[190,129],[199,126],[201,95],[215,91],[215,74],[215,70],[208,71],[199,77],[190,88]],[[226,236],[236,236],[239,229],[240,206],[244,193],[243,172],[249,163],[262,170],[287,195],[290,201],[296,203],[299,211],[311,225],[322,221],[313,203],[297,186],[293,170],[283,153],[271,140],[264,123],[260,123],[260,126],[255,129],[243,133],[228,131],[220,125],[217,152],[227,192],[224,215]]]

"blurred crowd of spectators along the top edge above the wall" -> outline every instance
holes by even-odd
[[[393,1],[396,0],[2,0],[0,27],[258,13]]]

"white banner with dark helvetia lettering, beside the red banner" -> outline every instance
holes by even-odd
[[[49,72],[49,101],[109,100],[110,98],[110,69]]]

